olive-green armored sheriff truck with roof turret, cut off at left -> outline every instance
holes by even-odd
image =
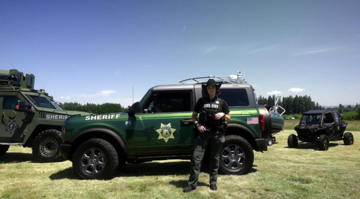
[[[0,154],[10,145],[32,147],[39,162],[62,159],[61,125],[69,116],[90,113],[66,111],[44,90],[34,89],[35,76],[16,69],[0,70]]]

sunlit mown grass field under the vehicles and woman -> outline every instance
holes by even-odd
[[[254,166],[242,176],[219,175],[218,191],[209,189],[206,166],[199,185],[183,193],[189,160],[125,164],[112,180],[79,180],[71,162],[33,162],[30,148],[11,146],[0,156],[0,198],[359,198],[360,132],[354,145],[330,142],[329,150],[302,143],[287,147],[284,130],[264,153],[255,152]]]

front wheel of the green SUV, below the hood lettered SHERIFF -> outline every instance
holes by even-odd
[[[100,138],[82,143],[72,157],[72,168],[84,179],[109,179],[118,165],[119,159],[115,148]]]

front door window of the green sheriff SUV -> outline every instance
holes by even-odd
[[[191,91],[153,92],[145,104],[150,113],[191,111]]]

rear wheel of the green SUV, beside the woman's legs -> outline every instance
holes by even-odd
[[[246,174],[252,168],[254,152],[251,145],[238,135],[225,136],[220,151],[220,169],[227,174]]]

